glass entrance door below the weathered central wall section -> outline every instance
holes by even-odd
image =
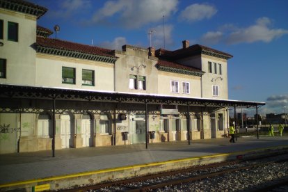
[[[145,143],[145,115],[132,115],[129,135],[131,144]]]

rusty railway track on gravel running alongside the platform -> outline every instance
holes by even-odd
[[[185,170],[175,170],[169,173],[159,173],[155,175],[147,175],[145,177],[134,177],[121,181],[110,182],[106,184],[97,184],[94,186],[86,186],[77,191],[169,191],[173,186],[182,186],[191,182],[201,181],[213,177],[221,177],[222,175],[237,173],[241,171],[253,170],[269,166],[272,163],[287,162],[287,155],[284,158],[270,157],[270,159],[251,159],[250,161],[228,161],[214,163],[205,166],[196,166]],[[287,183],[288,179],[282,181]],[[277,186],[277,184],[276,184]],[[263,189],[269,189],[265,186]],[[260,191],[265,191],[259,189]],[[75,189],[67,190],[75,191]],[[257,190],[256,190],[257,191]]]

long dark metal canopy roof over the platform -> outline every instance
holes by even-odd
[[[169,104],[205,107],[257,107],[265,102],[247,102],[230,99],[207,99],[191,97],[173,97],[168,95],[119,93],[95,90],[77,90],[67,88],[45,88],[36,86],[14,86],[0,84],[0,97],[15,99],[56,99],[82,102],[122,102],[134,104]]]

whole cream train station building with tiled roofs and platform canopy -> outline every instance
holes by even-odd
[[[228,99],[223,51],[68,42],[47,11],[0,0],[0,153],[221,138],[230,107],[265,104]]]

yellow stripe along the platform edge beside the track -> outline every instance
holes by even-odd
[[[143,168],[143,167],[148,167],[148,166],[159,166],[167,163],[177,163],[177,162],[182,162],[182,161],[193,161],[197,159],[208,159],[208,158],[215,158],[215,157],[227,157],[231,156],[234,154],[247,154],[249,152],[260,152],[260,151],[265,151],[265,150],[273,150],[273,149],[284,149],[287,148],[288,145],[279,145],[275,147],[265,147],[265,148],[256,148],[253,150],[245,150],[241,152],[231,152],[231,153],[221,153],[221,154],[211,154],[211,155],[205,155],[205,156],[200,156],[200,157],[188,157],[184,159],[174,159],[174,160],[168,160],[168,161],[161,161],[161,162],[154,162],[154,163],[143,163],[143,164],[137,164],[133,166],[122,166],[118,168],[106,168],[102,170],[92,170],[92,171],[87,171],[87,172],[82,172],[82,173],[71,173],[68,175],[59,175],[59,176],[53,176],[53,177],[46,177],[46,178],[40,178],[40,179],[31,179],[31,180],[26,180],[26,181],[20,181],[20,182],[11,182],[8,184],[0,184],[0,188],[3,187],[8,187],[8,186],[17,186],[17,185],[23,185],[23,184],[31,184],[31,183],[38,183],[38,182],[49,182],[49,181],[54,181],[58,179],[67,179],[67,178],[72,178],[72,177],[82,177],[86,175],[95,175],[99,173],[109,173],[113,171],[118,171],[118,170],[127,170],[131,168]]]

